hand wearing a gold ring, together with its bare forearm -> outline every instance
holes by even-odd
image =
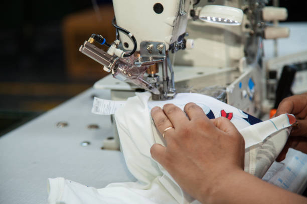
[[[186,115],[186,113],[187,115]],[[151,116],[165,132],[166,146],[154,144],[152,158],[202,203],[307,203],[303,196],[243,170],[244,139],[225,117],[209,119],[195,103],[154,107]]]

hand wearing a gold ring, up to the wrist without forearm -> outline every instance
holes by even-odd
[[[244,172],[244,138],[225,117],[210,120],[195,103],[184,110],[188,117],[174,104],[151,109],[160,133],[174,128],[165,132],[166,147],[154,144],[150,152],[186,192],[207,202]]]

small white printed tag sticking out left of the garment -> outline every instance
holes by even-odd
[[[105,100],[98,97],[94,97],[92,113],[110,115],[126,103],[125,100]]]

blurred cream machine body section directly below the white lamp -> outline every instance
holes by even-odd
[[[177,52],[175,65],[230,67],[244,57],[240,25],[189,20],[187,32],[194,39],[194,48]]]

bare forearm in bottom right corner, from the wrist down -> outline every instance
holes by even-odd
[[[307,203],[307,198],[238,170],[214,186],[203,203]]]

